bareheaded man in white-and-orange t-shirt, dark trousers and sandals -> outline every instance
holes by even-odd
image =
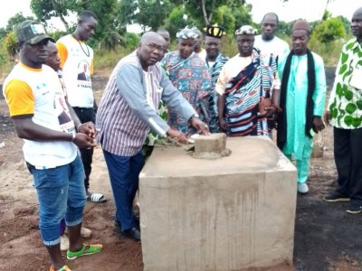
[[[98,18],[89,10],[81,12],[74,33],[67,34],[57,41],[61,58],[62,77],[67,99],[75,113],[83,122],[95,122],[97,105],[91,88],[90,75],[93,73],[93,50],[87,45],[98,26]],[[106,202],[100,193],[90,192],[90,172],[93,160],[93,148],[80,148],[81,162],[84,166],[84,186],[87,201]]]

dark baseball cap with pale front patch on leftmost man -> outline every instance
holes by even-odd
[[[55,42],[52,37],[47,35],[42,23],[30,20],[26,20],[23,23],[20,23],[16,31],[16,36],[18,42],[26,42],[29,44],[36,44],[38,42],[42,42],[45,39]]]

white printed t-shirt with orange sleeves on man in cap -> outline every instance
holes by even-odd
[[[33,115],[33,123],[52,130],[75,133],[57,73],[49,66],[32,69],[18,63],[5,79],[3,92],[11,117]],[[24,159],[37,168],[70,164],[77,147],[67,141],[24,139]]]

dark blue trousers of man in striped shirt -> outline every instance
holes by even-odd
[[[123,231],[136,227],[132,207],[138,190],[138,175],[144,165],[142,152],[134,156],[120,156],[103,150],[103,154],[116,203],[116,220],[121,223]]]

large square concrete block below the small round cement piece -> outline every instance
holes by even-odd
[[[140,174],[144,270],[292,263],[297,171],[269,138],[228,137],[230,156],[155,148]]]

